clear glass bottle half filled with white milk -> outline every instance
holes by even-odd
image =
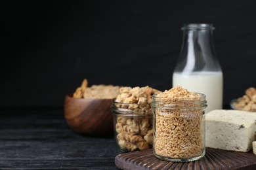
[[[181,54],[173,73],[173,87],[206,95],[205,112],[223,108],[223,73],[215,55],[212,24],[184,24]]]

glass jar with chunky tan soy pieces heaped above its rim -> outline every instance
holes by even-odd
[[[152,148],[152,95],[160,91],[145,87],[121,87],[112,101],[115,138],[120,152]]]

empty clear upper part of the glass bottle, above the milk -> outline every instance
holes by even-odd
[[[213,45],[213,29],[211,24],[188,24],[182,27],[181,55],[175,71],[221,71]]]

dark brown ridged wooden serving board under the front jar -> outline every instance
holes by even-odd
[[[156,158],[152,149],[148,149],[119,154],[115,163],[119,169],[256,169],[256,156],[252,152],[206,148],[200,160],[172,162]]]

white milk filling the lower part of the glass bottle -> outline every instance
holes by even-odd
[[[223,73],[220,72],[194,72],[173,73],[173,87],[182,86],[190,92],[206,95],[207,109],[205,113],[223,108]]]

